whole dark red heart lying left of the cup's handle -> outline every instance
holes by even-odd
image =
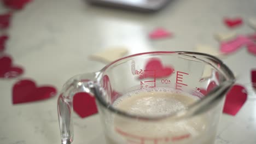
[[[13,104],[49,99],[56,93],[52,86],[37,87],[32,80],[20,80],[13,86]]]

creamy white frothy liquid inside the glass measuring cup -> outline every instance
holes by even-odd
[[[177,92],[176,89],[155,88],[152,91],[138,90],[126,93],[115,100],[113,106],[122,111],[136,115],[162,116],[187,109],[189,105],[195,103],[197,100],[199,100],[199,98],[184,92]],[[136,137],[146,137],[144,144],[148,144],[154,143],[153,140],[150,140],[154,137],[159,139],[157,144],[186,143],[187,140],[191,143],[195,140],[189,138],[179,141],[164,141],[164,139],[166,137],[172,139],[173,137],[187,134],[189,134],[190,137],[197,137],[203,133],[206,129],[206,125],[205,117],[195,117],[187,121],[179,122],[170,121],[168,118],[164,121],[147,122],[116,116],[113,119],[114,129],[119,129],[126,134],[135,136],[127,136],[119,133],[115,138],[107,136],[107,142],[108,144],[123,144],[129,143],[128,141],[132,139],[140,143],[141,140]],[[212,140],[203,142],[203,144],[205,143],[210,144]],[[201,144],[201,142],[197,144]]]

